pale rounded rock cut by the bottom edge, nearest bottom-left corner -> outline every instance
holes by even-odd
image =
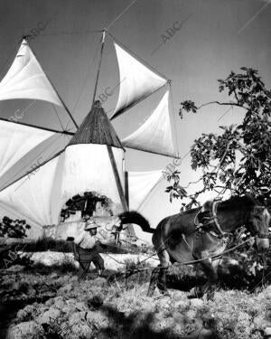
[[[38,337],[42,332],[43,329],[41,325],[37,325],[34,321],[29,321],[11,326],[8,329],[7,339]]]

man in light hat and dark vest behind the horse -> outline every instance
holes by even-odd
[[[73,242],[74,258],[79,261],[79,280],[86,278],[91,261],[101,275],[105,269],[104,260],[99,255],[103,244],[96,239],[98,226],[95,221],[87,221],[85,230]]]

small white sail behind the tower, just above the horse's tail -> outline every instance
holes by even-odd
[[[128,172],[129,207],[140,210],[145,200],[163,177],[162,171]]]

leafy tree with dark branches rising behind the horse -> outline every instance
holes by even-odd
[[[188,195],[180,185],[176,171],[167,180],[173,182],[166,192],[172,198],[190,198],[183,207],[197,204],[198,196],[205,191],[231,195],[252,193],[270,199],[271,193],[271,91],[256,70],[242,67],[241,73],[231,71],[228,78],[219,81],[220,92],[227,90],[229,102],[211,101],[197,107],[192,100],[181,103],[182,112],[198,113],[207,105],[223,105],[245,109],[240,125],[221,126],[219,134],[202,134],[192,144],[192,169],[202,170],[200,192]],[[186,188],[186,187],[185,187]]]

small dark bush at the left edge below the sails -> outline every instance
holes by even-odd
[[[0,221],[0,237],[5,238],[25,238],[26,231],[30,230],[31,226],[26,224],[25,220],[12,220],[8,217],[4,217]]]

